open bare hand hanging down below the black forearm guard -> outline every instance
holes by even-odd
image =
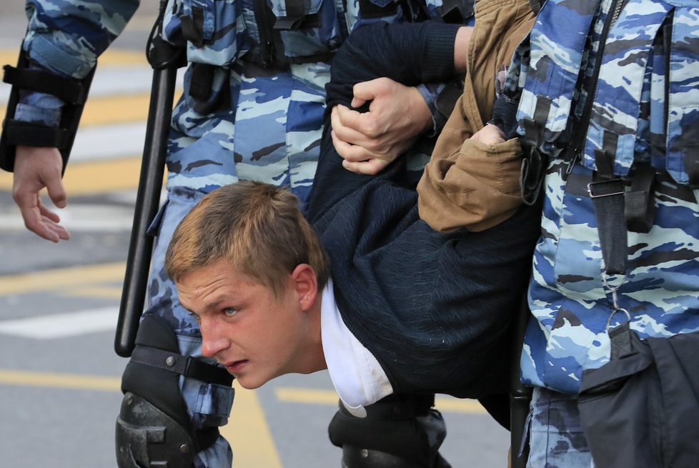
[[[68,240],[70,234],[59,224],[59,216],[41,203],[39,192],[46,187],[54,205],[64,208],[66,191],[61,181],[62,169],[58,149],[17,146],[12,199],[19,206],[26,229],[51,242]]]

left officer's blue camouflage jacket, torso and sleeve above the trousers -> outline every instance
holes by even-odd
[[[82,78],[139,3],[27,0],[24,49],[46,69]],[[164,36],[187,47],[189,62],[230,66],[246,54],[260,64],[267,54],[309,62],[327,59],[349,31],[367,22],[464,22],[472,13],[472,0],[450,1],[448,7],[442,0],[167,0]]]

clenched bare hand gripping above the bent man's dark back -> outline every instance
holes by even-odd
[[[377,174],[432,126],[432,114],[416,88],[378,78],[355,84],[352,107],[368,101],[363,113],[346,106],[332,109],[332,142],[345,169]]]

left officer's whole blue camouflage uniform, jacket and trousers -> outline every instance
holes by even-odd
[[[348,30],[367,21],[442,14],[442,0],[402,6],[380,0],[297,3],[302,5],[262,2],[271,6],[274,16],[269,16],[269,11],[260,10],[259,0],[168,1],[164,37],[186,47],[190,66],[172,116],[167,201],[151,227],[157,242],[144,317],[155,314],[166,320],[184,356],[201,356],[201,335],[194,319],[179,306],[174,284],[163,269],[167,244],[182,217],[204,194],[241,179],[290,186],[304,200],[319,156],[332,51]],[[34,66],[81,79],[122,32],[138,4],[138,0],[28,0],[24,50]],[[370,15],[363,14],[366,5],[371,6]],[[407,5],[412,5],[410,11]],[[269,29],[275,22],[281,27],[272,36]],[[264,24],[267,29],[261,27]],[[192,64],[203,64],[209,71],[203,95]],[[437,119],[434,101],[439,88],[421,86],[420,91]],[[25,94],[15,117],[51,124],[60,104],[52,96]],[[194,429],[227,422],[233,401],[230,387],[183,377],[180,385]],[[231,463],[231,450],[221,437],[199,452],[194,462],[197,467]]]

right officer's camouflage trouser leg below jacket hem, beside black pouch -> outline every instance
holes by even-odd
[[[577,396],[535,387],[529,414],[527,468],[594,468],[582,434]]]

